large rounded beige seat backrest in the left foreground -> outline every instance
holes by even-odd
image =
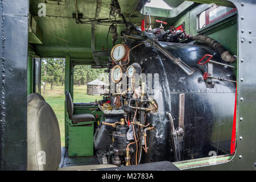
[[[59,122],[39,94],[30,94],[27,101],[27,169],[56,170],[61,160]]]

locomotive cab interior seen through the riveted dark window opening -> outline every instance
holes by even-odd
[[[28,170],[182,170],[233,158],[232,2],[30,0],[29,13]],[[41,95],[44,58],[65,59],[62,147]],[[101,100],[73,102],[77,65],[105,69]]]

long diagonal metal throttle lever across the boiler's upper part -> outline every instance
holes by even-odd
[[[181,59],[178,57],[174,57],[170,52],[167,51],[167,49],[163,48],[156,39],[152,38],[150,34],[147,32],[143,32],[144,36],[147,37],[147,41],[150,42],[154,47],[156,47],[160,52],[162,52],[165,56],[170,58],[172,61],[174,61],[175,64],[177,64],[185,73],[187,73],[188,76],[193,75],[195,70],[190,68],[187,64],[185,64]]]

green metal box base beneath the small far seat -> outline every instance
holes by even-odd
[[[68,127],[68,156],[93,155],[93,130],[93,122],[90,122],[89,125]]]

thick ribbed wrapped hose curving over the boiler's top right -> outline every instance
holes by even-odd
[[[237,58],[230,55],[229,51],[227,51],[221,43],[218,43],[216,40],[209,38],[205,35],[187,35],[188,39],[191,40],[201,40],[209,44],[209,46],[215,49],[221,55],[221,59],[227,63],[234,63],[237,61]]]

